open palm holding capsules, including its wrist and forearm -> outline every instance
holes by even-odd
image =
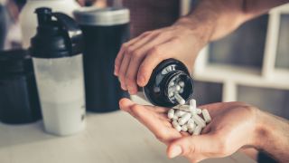
[[[183,156],[191,163],[227,157],[238,149],[265,151],[279,162],[289,162],[289,121],[243,102],[220,102],[200,106],[212,118],[199,136],[178,132],[167,118],[168,108],[143,106],[128,99],[119,101],[156,139],[167,146],[169,158]]]

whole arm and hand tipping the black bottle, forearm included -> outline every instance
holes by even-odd
[[[210,41],[234,31],[240,24],[288,0],[201,0],[189,15],[175,24],[145,32],[124,43],[115,61],[115,75],[123,90],[137,92],[144,87],[154,67],[174,58],[192,67],[195,59]]]

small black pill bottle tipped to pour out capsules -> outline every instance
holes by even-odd
[[[172,83],[183,82],[182,91],[178,91],[182,99],[186,102],[191,99],[193,93],[193,80],[186,66],[174,59],[164,60],[154,68],[148,84],[144,87],[144,95],[148,101],[156,106],[173,107],[180,102],[174,98]]]

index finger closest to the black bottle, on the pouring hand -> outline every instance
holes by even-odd
[[[157,46],[154,46],[144,58],[144,62],[139,67],[137,72],[137,84],[141,87],[144,87],[149,81],[154,68],[162,62],[164,59],[170,57],[167,49],[170,49],[171,42],[163,43]]]

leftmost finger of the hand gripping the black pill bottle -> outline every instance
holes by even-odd
[[[116,60],[115,60],[115,75],[118,76],[118,73],[119,73],[119,69],[120,69],[120,65],[121,65],[121,62],[124,58],[124,54],[126,52],[126,49],[128,46],[130,46],[131,44],[137,42],[137,40],[141,39],[142,37],[135,37],[134,39],[130,40],[129,42],[127,43],[123,43],[119,52],[117,53],[117,57],[116,57]]]

